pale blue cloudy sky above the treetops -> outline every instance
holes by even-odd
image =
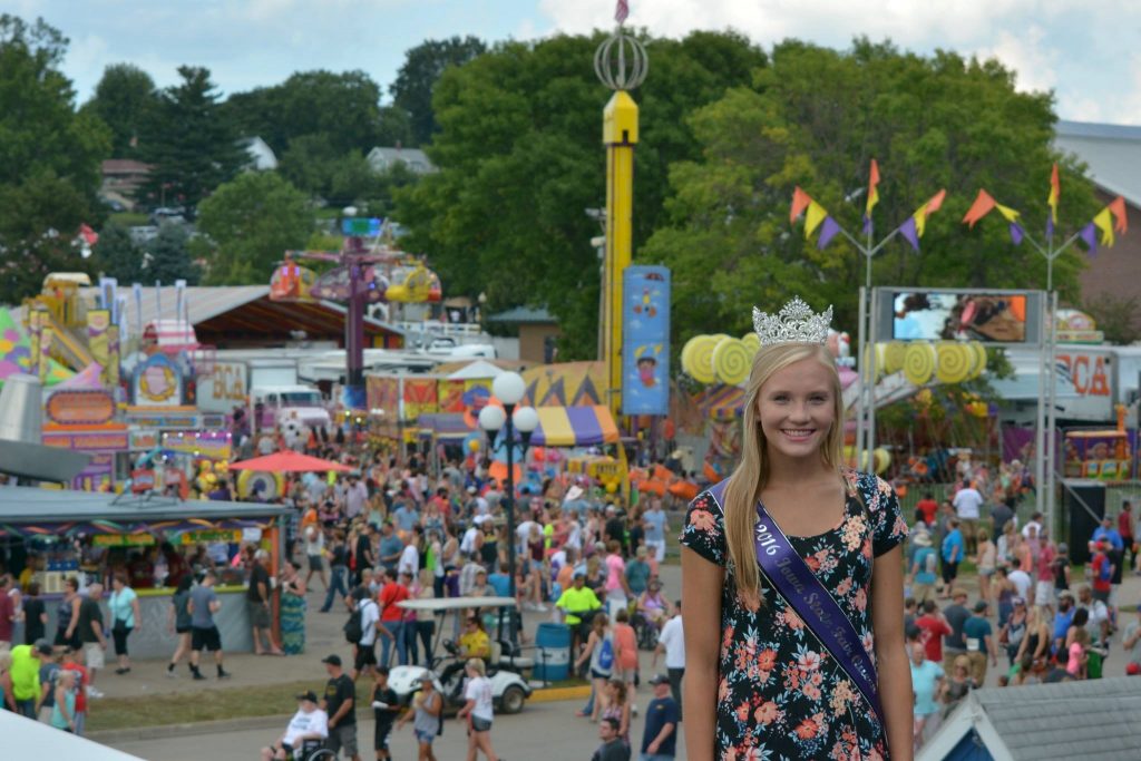
[[[997,57],[1021,89],[1053,89],[1063,119],[1141,124],[1136,0],[629,0],[629,23],[681,37],[734,27],[767,46],[800,38],[847,47],[890,38],[930,52]],[[209,67],[225,92],[293,71],[363,68],[387,86],[424,39],[534,39],[613,25],[615,0],[8,0],[71,39],[80,100],[104,66],[129,62],[160,86],[176,67]],[[653,55],[653,52],[652,52]],[[653,75],[653,73],[650,74]]]

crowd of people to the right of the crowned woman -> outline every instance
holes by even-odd
[[[905,586],[916,747],[986,683],[988,669],[1000,670],[1001,687],[1099,679],[1122,628],[1126,673],[1141,674],[1141,622],[1120,621],[1131,612],[1117,606],[1123,574],[1141,575],[1131,502],[1107,510],[1090,535],[1082,577],[1042,513],[1019,525],[1012,483],[1020,481],[998,479],[1000,500],[984,496],[985,480],[969,479],[941,503],[925,494],[916,505]],[[957,582],[964,560],[977,572],[973,604]]]

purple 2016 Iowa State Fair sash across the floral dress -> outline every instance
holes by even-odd
[[[722,480],[710,488],[710,496],[725,515],[725,487]],[[808,567],[804,559],[792,548],[788,537],[764,510],[756,503],[756,562],[764,572],[772,588],[796,612],[809,631],[835,658],[840,667],[864,695],[880,722],[883,723],[883,707],[880,705],[879,683],[875,664],[864,649],[864,642],[851,621],[840,609],[832,594]]]

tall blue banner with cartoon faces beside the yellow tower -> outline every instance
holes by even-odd
[[[622,275],[622,414],[670,414],[670,270]]]

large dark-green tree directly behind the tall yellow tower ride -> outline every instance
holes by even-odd
[[[429,256],[448,293],[486,292],[489,311],[548,307],[572,358],[597,351],[599,262],[590,238],[599,227],[585,210],[606,200],[601,121],[610,92],[591,65],[602,40],[508,42],[447,70],[434,92],[440,131],[428,148],[439,171],[397,193],[407,246]],[[747,86],[766,62],[733,33],[647,42],[650,75],[634,94],[636,244],[663,221],[669,165],[701,155],[686,116]]]

